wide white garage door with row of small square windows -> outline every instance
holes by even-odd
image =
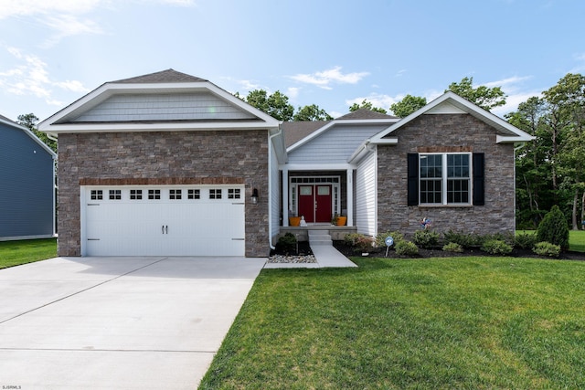
[[[243,185],[85,186],[81,196],[85,256],[245,255]]]

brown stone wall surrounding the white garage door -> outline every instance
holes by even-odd
[[[246,185],[246,256],[269,254],[268,134],[264,130],[116,132],[58,136],[58,256],[80,256],[80,184]],[[150,181],[149,181],[150,180]],[[251,205],[252,188],[260,193]]]

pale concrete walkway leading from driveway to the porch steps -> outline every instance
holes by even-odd
[[[357,267],[333,246],[331,236],[324,230],[309,231],[309,245],[316,263],[266,263],[265,269],[323,269]]]

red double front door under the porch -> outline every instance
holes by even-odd
[[[299,216],[306,222],[331,221],[331,185],[299,185]]]

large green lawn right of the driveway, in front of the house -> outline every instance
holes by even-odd
[[[202,389],[585,388],[585,262],[265,269]]]

